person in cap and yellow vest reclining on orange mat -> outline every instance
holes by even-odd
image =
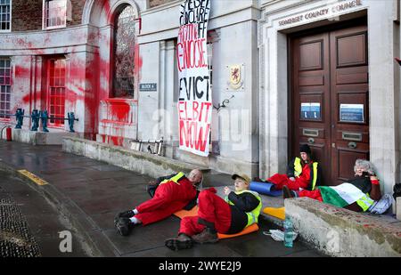
[[[179,250],[191,248],[193,242],[215,243],[217,232],[235,234],[258,222],[262,200],[257,192],[249,190],[250,178],[246,174],[233,174],[232,178],[235,191],[225,186],[225,199],[218,197],[214,188],[201,191],[198,215],[184,217],[178,237],[167,239],[166,247]]]

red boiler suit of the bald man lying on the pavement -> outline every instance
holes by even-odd
[[[196,198],[197,191],[187,178],[178,183],[169,181],[159,185],[154,197],[136,206],[138,214],[135,217],[143,225],[158,222],[176,213]]]

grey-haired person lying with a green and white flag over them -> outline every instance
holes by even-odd
[[[317,190],[311,191],[284,188],[282,195],[284,198],[315,198],[333,206],[364,212],[374,201],[381,199],[381,187],[370,161],[356,159],[354,172],[355,178],[338,186],[319,186]]]

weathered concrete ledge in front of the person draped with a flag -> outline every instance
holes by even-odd
[[[333,256],[401,256],[401,222],[360,214],[311,198],[285,199],[301,239]]]

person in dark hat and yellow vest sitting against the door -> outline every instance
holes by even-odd
[[[321,184],[321,168],[312,160],[310,147],[303,144],[299,148],[299,157],[293,158],[288,166],[287,174],[274,174],[266,180],[274,184],[275,190],[287,186],[290,190],[315,190]]]

